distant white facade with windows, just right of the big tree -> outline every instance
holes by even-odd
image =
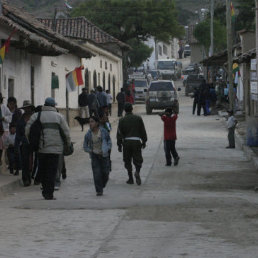
[[[178,58],[179,40],[176,38],[170,40],[170,43],[158,41],[155,44],[154,37],[150,37],[145,44],[153,48],[151,56],[144,62],[147,69],[155,69],[156,60]]]

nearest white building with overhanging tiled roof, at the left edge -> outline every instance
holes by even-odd
[[[81,66],[81,58],[90,58],[94,54],[3,1],[0,14],[3,42],[14,30],[9,52],[0,66],[3,96],[5,99],[16,97],[19,107],[24,100],[30,100],[35,106],[42,105],[46,97],[53,96],[60,111],[72,124],[69,118],[78,112],[79,88],[67,94],[65,76]],[[54,76],[59,81],[56,89],[52,89]]]

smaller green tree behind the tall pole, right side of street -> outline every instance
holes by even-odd
[[[195,38],[204,46],[208,56],[210,47],[210,19],[199,23],[194,31]],[[214,20],[214,50],[219,52],[227,46],[227,30],[220,21]]]

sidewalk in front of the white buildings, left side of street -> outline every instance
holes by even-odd
[[[109,117],[111,124],[114,124],[118,121],[117,117],[117,104],[112,105],[112,116]],[[74,142],[74,148],[82,148],[82,141],[85,133],[88,130],[88,125],[85,126],[84,131],[81,131],[81,126],[72,127],[70,129],[72,142]],[[17,189],[17,187],[22,187],[21,181],[21,171],[19,176],[13,176],[9,173],[9,170],[6,168],[6,165],[3,164],[0,167],[0,198],[10,194]]]

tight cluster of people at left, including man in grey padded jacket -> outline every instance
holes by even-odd
[[[2,156],[6,157],[10,174],[17,176],[21,170],[25,187],[34,179],[34,184],[41,183],[43,197],[53,199],[61,174],[66,178],[64,146],[71,145],[69,127],[58,113],[55,100],[46,98],[44,105],[38,107],[25,100],[21,108],[14,97],[8,98],[5,105],[0,94],[0,101],[1,164]],[[35,127],[36,123],[40,127]],[[30,140],[33,133],[37,149]]]

